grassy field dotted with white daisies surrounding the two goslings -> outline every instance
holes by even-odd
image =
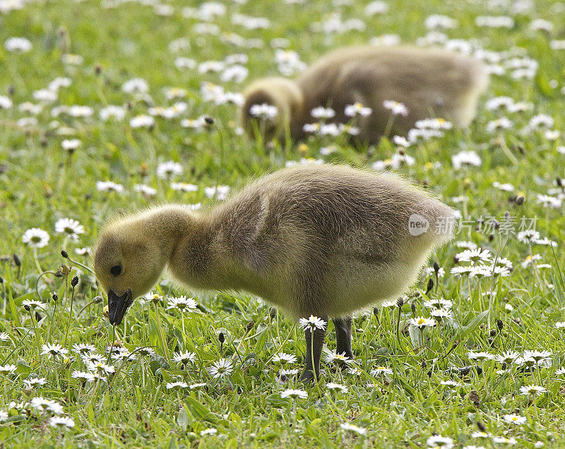
[[[564,23],[552,0],[0,0],[0,447],[565,447]],[[227,92],[396,40],[487,61],[469,130],[356,149],[237,129]],[[244,294],[161,280],[109,325],[88,269],[108,217],[316,160],[393,169],[461,212],[400,309],[357,314],[350,370],[299,384],[302,330]],[[167,306],[182,294],[197,308]]]

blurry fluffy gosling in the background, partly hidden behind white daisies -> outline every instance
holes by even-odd
[[[416,121],[441,118],[465,128],[475,116],[477,100],[487,87],[488,76],[477,59],[443,49],[419,47],[350,47],[321,58],[297,80],[264,78],[244,91],[239,110],[242,127],[251,135],[302,140],[304,125],[314,119],[312,109],[331,107],[327,121],[347,124],[345,108],[367,111],[354,122],[357,138],[377,143],[383,134],[405,135]],[[391,109],[383,102],[403,103],[391,122]],[[256,105],[276,109],[261,111]],[[393,104],[390,107],[395,107]],[[387,136],[387,137],[388,137]]]

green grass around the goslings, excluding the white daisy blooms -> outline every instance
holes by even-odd
[[[565,321],[564,253],[561,246],[553,253],[549,246],[530,247],[518,241],[516,234],[506,235],[488,227],[491,217],[504,227],[504,212],[508,210],[516,219],[513,229],[518,230],[522,217],[535,218],[542,237],[559,245],[564,240],[562,206],[544,208],[537,203],[537,193],[557,188],[555,179],[565,176],[565,155],[558,150],[564,140],[548,140],[543,129],[521,132],[532,116],[542,113],[554,118],[554,129],[565,131],[561,92],[565,52],[549,47],[550,40],[564,38],[563,11],[550,1],[537,1],[537,8],[513,15],[504,7],[489,10],[479,2],[462,6],[460,2],[391,0],[388,13],[369,17],[364,14],[364,3],[332,6],[331,1],[320,0],[285,5],[281,1],[249,0],[243,5],[227,2],[227,13],[213,20],[220,35],[196,35],[194,24],[199,21],[181,14],[188,2],[172,4],[172,16],[157,16],[152,7],[134,2],[103,7],[109,3],[34,1],[19,11],[0,15],[0,95],[11,95],[13,100],[13,107],[0,109],[0,276],[4,281],[0,287],[0,333],[8,335],[7,341],[0,342],[0,365],[16,365],[15,372],[0,373],[0,417],[11,401],[44,397],[60,402],[63,416],[75,422],[72,429],[54,429],[49,426],[50,413],[32,411],[28,416],[12,409],[0,422],[0,446],[393,448],[425,446],[434,433],[452,438],[457,447],[499,445],[492,437],[484,441],[472,438],[478,422],[494,437],[516,438],[520,447],[532,448],[537,441],[545,447],[565,446],[564,377],[555,372],[565,364],[563,331],[555,326]],[[311,32],[311,24],[328,20],[331,10],[341,11],[343,20],[361,18],[366,29],[332,35]],[[268,17],[271,26],[246,30],[233,25],[230,18],[238,11]],[[406,299],[398,336],[398,308],[381,309],[378,316],[357,315],[353,350],[358,374],[326,364],[319,385],[303,387],[297,383],[297,376],[280,382],[280,367],[272,360],[275,354],[295,354],[298,361],[292,368],[300,368],[304,359],[304,336],[295,323],[281,314],[271,318],[270,307],[254,297],[182,292],[165,280],[157,285],[157,292],[165,299],[189,293],[198,302],[198,311],[186,314],[183,322],[179,313],[166,309],[165,302],[155,306],[137,301],[115,330],[115,338],[127,349],[133,352],[138,347],[152,347],[156,356],[136,353],[134,361],[112,360],[114,375],[107,381],[83,386],[71,378],[73,371],[85,369],[75,353],[69,351],[56,363],[40,354],[45,343],[59,342],[69,350],[74,344],[88,343],[106,360],[106,347],[114,341],[113,329],[103,316],[106,299],[100,298],[102,292],[95,278],[78,263],[62,258],[62,249],[69,251],[74,261],[90,266],[90,258],[74,250],[92,245],[109,216],[168,201],[208,204],[212,200],[206,198],[207,186],[238,188],[250,176],[283,167],[287,160],[320,158],[319,149],[332,143],[328,138],[314,138],[300,148],[263,149],[235,133],[233,105],[214,106],[202,100],[203,80],[239,92],[252,78],[276,75],[275,50],[269,47],[276,37],[289,40],[289,48],[307,63],[328,49],[368,42],[381,34],[396,33],[403,42],[415,42],[426,34],[424,20],[432,13],[458,20],[458,28],[445,31],[450,38],[476,38],[482,47],[495,52],[523,52],[540,65],[532,80],[515,80],[510,69],[503,76],[493,76],[470,130],[447,131],[444,138],[406,150],[415,164],[403,165],[398,172],[425,183],[429,191],[461,210],[463,226],[456,240],[439,249],[430,261],[437,261],[446,275],[434,285],[429,298],[423,296],[428,277],[422,275]],[[516,25],[511,30],[475,25],[477,16],[499,14],[513,15]],[[530,30],[534,18],[550,20],[554,30]],[[225,32],[235,32],[246,40],[259,38],[264,45],[258,49],[236,47],[222,40]],[[7,52],[4,42],[14,36],[27,37],[32,50]],[[170,52],[169,43],[181,37],[190,42],[190,48]],[[83,63],[64,64],[61,56],[66,53],[83,56]],[[250,75],[242,84],[222,83],[217,73],[201,74],[174,66],[178,56],[200,63],[236,53],[249,55],[245,65]],[[18,126],[18,119],[29,116],[20,112],[19,105],[37,103],[33,92],[47,88],[61,76],[71,78],[71,85],[60,88],[57,101],[46,104],[37,114],[37,124],[28,129]],[[163,88],[186,89],[188,95],[182,99],[186,112],[175,119],[156,117],[151,129],[131,128],[129,119],[146,114],[148,109],[146,102],[122,92],[121,85],[131,78],[147,81],[148,95],[155,105],[172,104],[165,99]],[[531,102],[533,109],[516,113],[485,109],[484,102],[499,95]],[[131,109],[124,121],[99,119],[98,111],[107,104],[126,103]],[[93,107],[95,113],[86,119],[50,115],[52,107],[73,104]],[[198,133],[180,126],[181,119],[201,114],[213,116],[218,127]],[[509,116],[513,126],[488,133],[489,121],[503,115]],[[53,120],[59,124],[51,124]],[[62,136],[61,128],[70,128],[70,136]],[[81,146],[70,154],[61,148],[65,138],[78,138]],[[225,151],[220,167],[222,143]],[[387,140],[374,151],[343,143],[336,147],[332,155],[321,158],[365,166],[396,152]],[[477,152],[482,164],[453,169],[451,156],[461,150]],[[184,173],[174,181],[196,184],[198,191],[174,191],[169,180],[156,176],[157,165],[169,160],[184,167]],[[439,165],[435,166],[436,162]],[[97,191],[96,182],[107,180],[122,184],[124,193]],[[494,188],[494,181],[511,183],[515,191]],[[147,198],[133,189],[136,184],[151,186],[157,194]],[[523,204],[513,200],[516,195],[523,195]],[[552,195],[557,197],[557,193]],[[456,197],[465,201],[456,203]],[[77,242],[55,232],[55,222],[64,217],[85,227]],[[487,229],[477,229],[480,220]],[[50,235],[49,244],[36,255],[21,239],[32,227]],[[454,277],[450,274],[456,265],[453,256],[463,251],[456,246],[457,241],[473,241],[493,256],[509,258],[514,268],[511,275],[494,280]],[[537,263],[551,267],[523,268],[521,263],[530,253],[539,253],[541,260]],[[21,261],[20,266],[13,255]],[[59,265],[72,266],[71,272],[54,275]],[[47,273],[39,277],[40,270]],[[70,282],[75,275],[80,282],[73,289]],[[485,313],[488,299],[482,293],[491,287],[495,296],[489,314]],[[57,304],[51,299],[53,291],[59,296]],[[429,317],[424,300],[436,298],[453,301],[453,322],[430,329],[426,347],[416,341],[412,344],[408,321],[415,316]],[[30,318],[22,306],[30,299],[47,304],[40,312],[40,321]],[[496,320],[501,320],[501,330]],[[221,345],[220,333],[225,335]],[[331,324],[326,344],[328,349],[335,349]],[[551,366],[532,372],[514,365],[501,375],[496,373],[501,369],[499,363],[485,361],[481,373],[475,368],[465,376],[458,373],[458,369],[473,365],[468,358],[470,351],[502,354],[515,350],[522,354],[536,349],[552,352]],[[187,369],[175,364],[172,355],[179,350],[195,352],[196,363]],[[233,361],[233,372],[225,378],[210,378],[207,368],[222,357]],[[378,366],[392,369],[392,374],[371,376],[369,372]],[[46,383],[26,390],[23,381],[36,376],[45,378]],[[167,390],[165,385],[177,380],[206,386],[178,393]],[[452,391],[451,386],[441,384],[448,380],[460,385]],[[347,385],[347,393],[329,390],[328,382]],[[530,384],[542,385],[547,392],[530,400],[519,393],[522,386]],[[304,388],[308,397],[283,399],[280,393],[287,388]],[[509,424],[504,415],[511,413],[527,419],[521,425]],[[362,426],[367,435],[341,429],[340,424],[345,422]],[[201,431],[209,428],[217,429],[217,433],[201,436]]]

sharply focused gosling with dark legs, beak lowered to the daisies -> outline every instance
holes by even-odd
[[[451,224],[451,208],[392,174],[303,165],[207,212],[165,205],[110,222],[95,273],[112,325],[167,267],[189,287],[251,292],[295,319],[331,317],[337,352],[352,358],[352,313],[403,294]],[[309,332],[302,380],[319,374],[326,330],[313,345]]]

